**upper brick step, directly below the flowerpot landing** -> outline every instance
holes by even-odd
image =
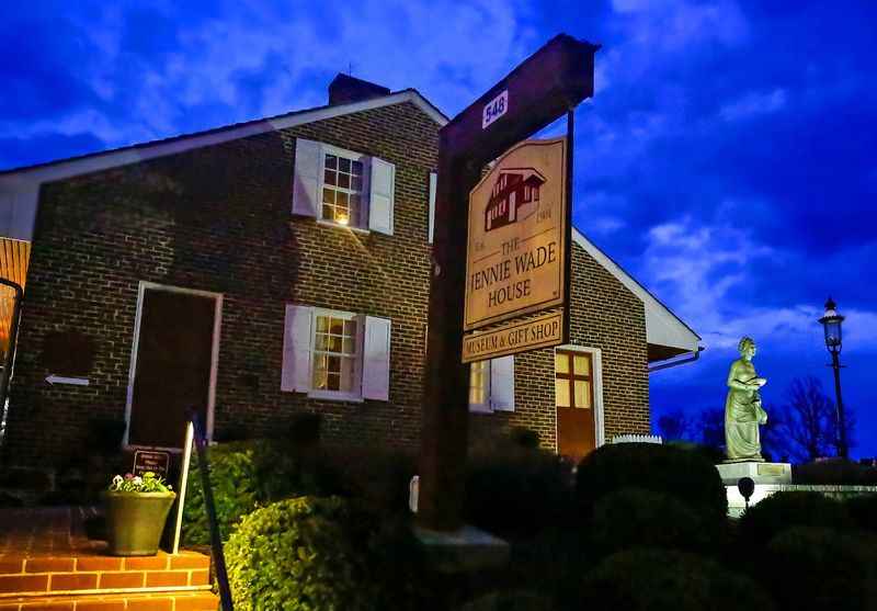
[[[113,557],[0,555],[0,601],[22,596],[183,592],[210,588],[210,558],[197,552]]]

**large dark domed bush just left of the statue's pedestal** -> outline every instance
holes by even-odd
[[[584,511],[622,488],[664,493],[725,520],[728,497],[716,466],[699,452],[657,443],[606,444],[579,465],[576,494]]]

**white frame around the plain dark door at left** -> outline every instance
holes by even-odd
[[[223,328],[223,293],[210,291],[200,291],[196,288],[184,288],[169,284],[158,284],[156,282],[140,281],[137,288],[137,313],[134,317],[134,341],[130,349],[130,365],[128,369],[128,388],[125,400],[125,434],[122,438],[124,450],[159,450],[172,454],[182,453],[182,448],[163,448],[151,445],[133,445],[128,443],[128,430],[130,428],[130,412],[134,405],[134,380],[137,373],[137,351],[140,343],[140,321],[143,318],[144,298],[147,291],[167,291],[169,293],[183,293],[186,295],[198,295],[201,297],[212,297],[216,302],[213,319],[213,347],[210,350],[210,381],[207,388],[207,422],[205,423],[205,435],[207,441],[213,441],[214,408],[216,406],[216,381],[219,369],[219,335]]]

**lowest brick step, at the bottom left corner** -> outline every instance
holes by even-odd
[[[19,597],[0,599],[0,611],[217,611],[209,591]]]

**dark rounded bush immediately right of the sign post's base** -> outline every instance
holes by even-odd
[[[500,535],[529,535],[566,521],[569,469],[544,450],[509,445],[476,454],[466,474],[465,516]]]

